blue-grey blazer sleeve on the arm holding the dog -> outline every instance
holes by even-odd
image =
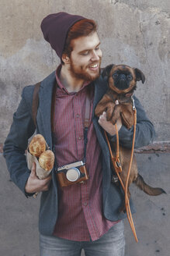
[[[154,126],[147,118],[144,108],[140,101],[134,96],[135,107],[137,109],[137,126],[134,148],[141,148],[148,144],[151,144],[155,137]],[[132,147],[132,141],[134,136],[134,126],[128,130],[125,126],[122,126],[119,130],[120,144],[125,148]],[[111,141],[116,141],[116,136],[110,137]]]

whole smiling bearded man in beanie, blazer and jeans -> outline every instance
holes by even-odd
[[[61,65],[40,84],[36,126],[32,104],[35,86],[23,89],[14,114],[4,155],[12,180],[26,196],[42,191],[40,203],[40,255],[123,256],[124,235],[120,213],[123,192],[111,182],[109,149],[103,130],[115,140],[115,128],[103,112],[94,109],[107,83],[100,76],[102,51],[94,20],[66,12],[50,14],[41,23],[44,38]],[[154,128],[135,98],[135,146],[151,142]],[[120,142],[130,148],[133,128],[117,122]],[[36,176],[27,169],[25,150],[33,133],[40,133],[55,154],[52,175]]]

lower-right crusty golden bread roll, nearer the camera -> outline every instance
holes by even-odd
[[[50,171],[54,166],[54,153],[53,151],[44,151],[39,158],[40,167],[46,171]]]

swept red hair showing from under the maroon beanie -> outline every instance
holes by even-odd
[[[85,37],[89,34],[96,32],[97,25],[94,20],[83,19],[76,22],[70,30],[68,30],[68,36],[65,41],[63,53],[70,57],[73,50],[71,41],[78,37]]]

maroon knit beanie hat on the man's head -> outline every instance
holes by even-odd
[[[45,17],[40,25],[44,39],[61,58],[68,30],[78,20],[85,19],[82,16],[72,15],[67,12],[58,12]]]

